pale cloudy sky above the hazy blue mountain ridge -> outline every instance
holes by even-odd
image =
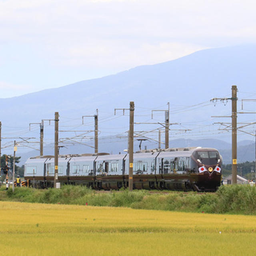
[[[0,0],[0,98],[256,42],[252,0]]]

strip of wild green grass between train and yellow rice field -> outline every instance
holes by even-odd
[[[155,191],[157,192],[157,191]],[[153,193],[147,190],[98,192],[85,186],[62,186],[39,190],[0,190],[0,200],[45,204],[130,207],[134,209],[256,215],[256,188],[245,185],[222,186],[216,193]]]

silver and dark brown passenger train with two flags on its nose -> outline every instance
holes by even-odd
[[[133,155],[134,189],[216,191],[222,157],[214,148],[143,150]],[[129,154],[60,155],[58,182],[94,189],[128,187]],[[24,177],[37,188],[54,184],[54,156],[30,157]]]

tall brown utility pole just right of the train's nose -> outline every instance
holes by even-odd
[[[232,97],[231,98],[213,98],[210,101],[216,102],[220,100],[222,102],[232,101],[232,115],[231,116],[212,116],[212,117],[231,117],[232,118],[232,184],[237,183],[237,87],[232,85]],[[215,103],[214,103],[215,104]]]

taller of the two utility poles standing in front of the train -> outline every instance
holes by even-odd
[[[130,108],[115,108],[114,114],[116,115],[116,110],[122,110],[123,115],[125,110],[130,110],[130,128],[129,128],[129,190],[133,189],[133,134],[134,134],[134,102],[130,101]]]

